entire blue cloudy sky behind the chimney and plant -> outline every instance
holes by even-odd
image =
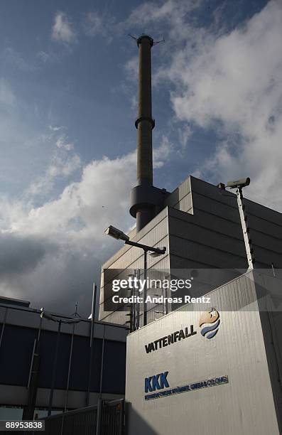
[[[153,47],[154,183],[251,177],[282,211],[282,2],[2,0],[0,294],[89,314],[136,176],[131,33]]]

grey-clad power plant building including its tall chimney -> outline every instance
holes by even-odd
[[[246,245],[237,195],[189,176],[172,193],[153,186],[151,104],[151,48],[153,39],[141,35],[139,46],[139,114],[137,129],[137,185],[131,190],[130,213],[136,217],[136,228],[129,234],[132,242],[152,247],[166,247],[162,257],[148,258],[146,269],[171,272],[176,269],[231,269],[220,274],[215,284],[223,284],[248,269]],[[219,180],[222,181],[222,180]],[[256,267],[282,267],[282,216],[274,210],[244,201],[251,245]],[[111,222],[114,223],[114,222]],[[143,268],[143,253],[136,247],[124,246],[102,267],[99,319],[124,324],[126,313],[104,309],[107,299],[108,269]],[[276,274],[278,274],[278,270]],[[111,275],[112,276],[112,275]],[[116,275],[118,278],[118,275]],[[202,285],[207,293],[216,285]],[[148,289],[150,291],[150,289]],[[152,289],[152,291],[154,291]],[[106,307],[107,308],[107,307]],[[156,318],[158,307],[148,305],[146,322]],[[139,324],[143,324],[140,310]]]

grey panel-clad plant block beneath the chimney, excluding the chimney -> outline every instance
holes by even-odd
[[[282,215],[274,210],[245,200],[246,214],[256,267],[269,269],[276,276],[282,267]],[[192,176],[168,195],[165,207],[138,233],[129,234],[134,242],[153,247],[166,246],[166,254],[148,257],[148,269],[229,269],[226,279],[248,269],[246,248],[242,233],[236,195],[222,191]],[[109,259],[102,269],[99,318],[124,324],[125,311],[104,311],[104,270],[143,269],[143,252],[124,245]],[[215,287],[215,286],[213,286]],[[210,288],[202,288],[202,294]],[[156,306],[148,306],[148,322],[156,318]],[[141,321],[142,325],[142,312]]]

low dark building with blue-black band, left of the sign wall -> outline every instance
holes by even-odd
[[[33,419],[49,407],[63,412],[124,397],[128,328],[41,313],[27,301],[0,298],[0,419]],[[67,322],[60,331],[59,320]]]

